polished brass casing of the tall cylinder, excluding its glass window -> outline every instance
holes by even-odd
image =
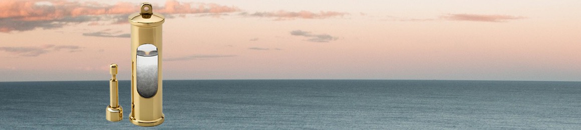
[[[148,8],[148,9],[147,9]],[[153,13],[149,3],[141,6],[141,13],[129,16],[131,23],[131,114],[130,121],[142,127],[153,127],[164,121],[162,106],[162,24],[165,17]],[[157,48],[157,92],[144,98],[137,91],[137,49],[152,44]]]

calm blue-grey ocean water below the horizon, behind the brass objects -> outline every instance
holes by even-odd
[[[109,81],[0,82],[0,129],[137,129],[130,82],[120,122]],[[581,129],[581,82],[164,80],[146,129]]]

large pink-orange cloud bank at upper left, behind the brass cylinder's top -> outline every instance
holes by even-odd
[[[114,23],[127,23],[127,15],[137,13],[140,4],[118,2],[106,5],[98,2],[65,0],[7,0],[0,2],[0,32],[28,31],[34,28],[59,28],[70,23],[103,20],[102,15],[116,15]],[[216,3],[184,3],[166,1],[165,6],[154,6],[153,11],[166,15],[191,13],[231,13],[240,9]],[[167,16],[171,18],[172,16]],[[110,19],[110,18],[109,18]],[[125,21],[125,22],[122,22]],[[96,25],[91,23],[91,25]]]

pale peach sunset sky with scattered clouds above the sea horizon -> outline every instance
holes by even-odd
[[[581,81],[581,1],[143,1],[164,80]],[[0,1],[0,81],[131,77],[135,1]]]

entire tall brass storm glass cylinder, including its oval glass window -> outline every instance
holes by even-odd
[[[130,121],[152,127],[164,121],[162,106],[162,24],[165,17],[153,13],[150,3],[129,16],[131,23]]]

